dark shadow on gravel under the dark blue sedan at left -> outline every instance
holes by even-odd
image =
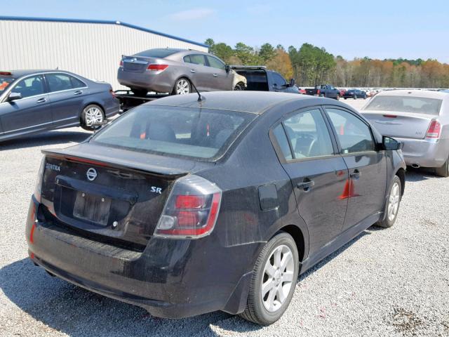
[[[24,138],[4,140],[0,142],[0,151],[45,145],[58,145],[70,142],[81,143],[91,135],[92,133],[88,131],[47,131],[32,136],[26,136]]]

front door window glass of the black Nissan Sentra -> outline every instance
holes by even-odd
[[[361,119],[340,109],[327,108],[326,111],[340,140],[343,154],[375,150],[370,128]]]

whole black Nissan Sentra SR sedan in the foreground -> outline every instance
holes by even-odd
[[[158,317],[279,319],[298,274],[398,214],[401,143],[344,103],[215,92],[140,105],[44,150],[36,265]]]

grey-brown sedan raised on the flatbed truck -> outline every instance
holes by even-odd
[[[139,96],[148,91],[184,95],[199,91],[241,90],[236,74],[210,53],[176,48],[156,48],[123,55],[117,79]]]

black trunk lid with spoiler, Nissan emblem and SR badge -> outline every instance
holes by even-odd
[[[145,249],[175,180],[213,165],[88,144],[43,153],[47,220],[134,250]]]

